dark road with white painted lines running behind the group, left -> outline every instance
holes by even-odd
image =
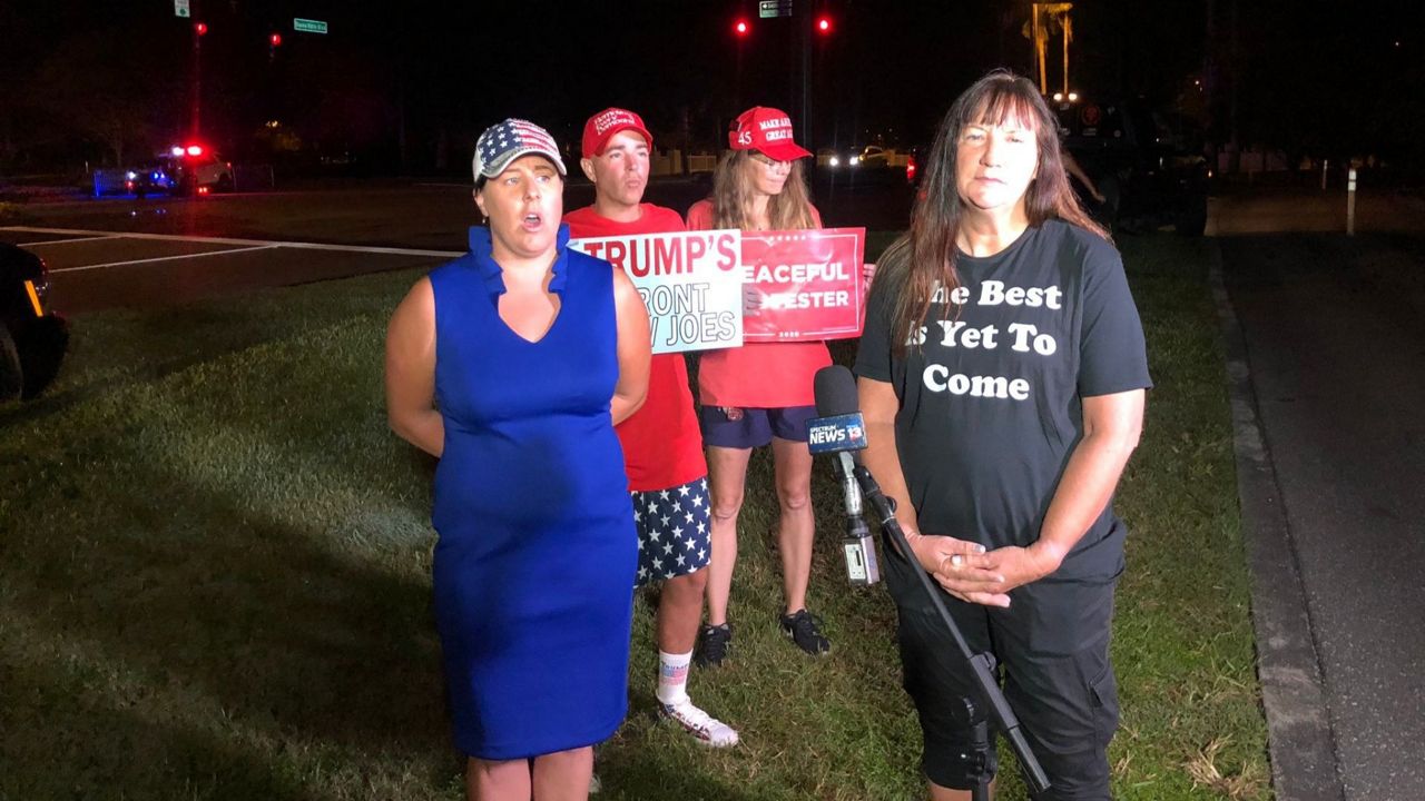
[[[903,181],[819,184],[815,191],[832,227],[895,231],[909,218]],[[707,192],[705,182],[658,181],[647,198],[681,211]],[[564,208],[590,202],[590,185],[566,188]],[[26,225],[0,228],[0,241],[30,247],[46,259],[53,305],[67,314],[433,267],[463,252],[466,229],[479,221],[470,187],[459,184],[76,198],[24,211]]]

